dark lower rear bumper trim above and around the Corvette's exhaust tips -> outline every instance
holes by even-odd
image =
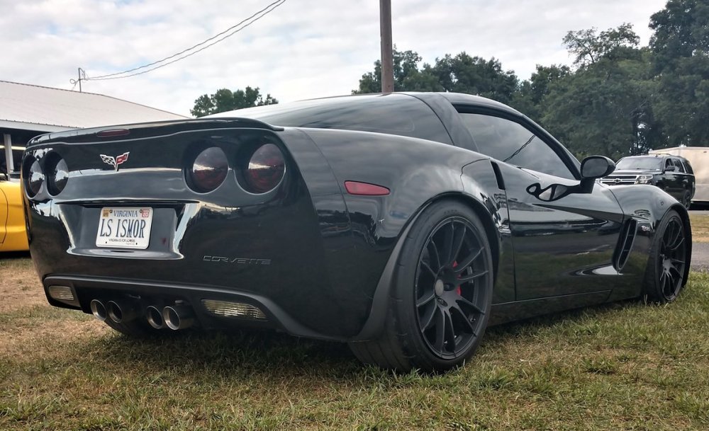
[[[81,309],[91,313],[92,299],[103,301],[130,301],[139,310],[138,318],[147,318],[148,306],[162,308],[176,302],[189,306],[196,321],[202,328],[269,328],[284,331],[291,335],[323,340],[345,341],[346,338],[313,331],[298,323],[274,301],[258,294],[234,292],[219,287],[206,285],[179,285],[173,283],[152,282],[146,280],[117,280],[106,277],[84,277],[81,275],[49,275],[44,278],[45,295],[50,304],[68,309]],[[61,301],[49,294],[50,286],[65,286],[72,289],[74,301]],[[203,300],[225,301],[234,304],[246,304],[262,311],[265,318],[247,318],[240,316],[218,316],[204,306]]]

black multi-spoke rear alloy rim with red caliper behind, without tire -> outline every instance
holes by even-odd
[[[418,331],[441,359],[453,360],[466,352],[480,332],[488,298],[479,285],[491,276],[483,251],[470,222],[449,217],[428,236],[418,259]]]

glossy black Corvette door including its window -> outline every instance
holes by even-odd
[[[498,160],[507,193],[517,300],[609,290],[623,212],[608,188],[554,197],[579,184],[578,168],[546,132],[524,118],[462,109],[477,150]]]

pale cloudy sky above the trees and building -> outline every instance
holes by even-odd
[[[0,80],[78,91],[196,45],[274,0],[0,0]],[[571,64],[569,30],[631,23],[647,45],[665,0],[392,0],[393,42],[424,62],[465,51],[527,79]],[[349,94],[379,58],[379,1],[286,0],[212,47],[83,91],[190,115],[218,88],[259,87],[281,102]],[[145,69],[140,69],[140,71]]]

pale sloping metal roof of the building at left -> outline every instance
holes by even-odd
[[[59,132],[184,118],[102,94],[0,81],[0,127]]]

